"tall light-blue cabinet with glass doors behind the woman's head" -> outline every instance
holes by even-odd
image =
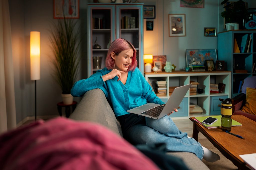
[[[87,15],[88,77],[105,67],[108,48],[117,38],[124,38],[134,45],[138,51],[137,67],[144,73],[143,3],[89,3]],[[101,48],[97,48],[98,45]]]

